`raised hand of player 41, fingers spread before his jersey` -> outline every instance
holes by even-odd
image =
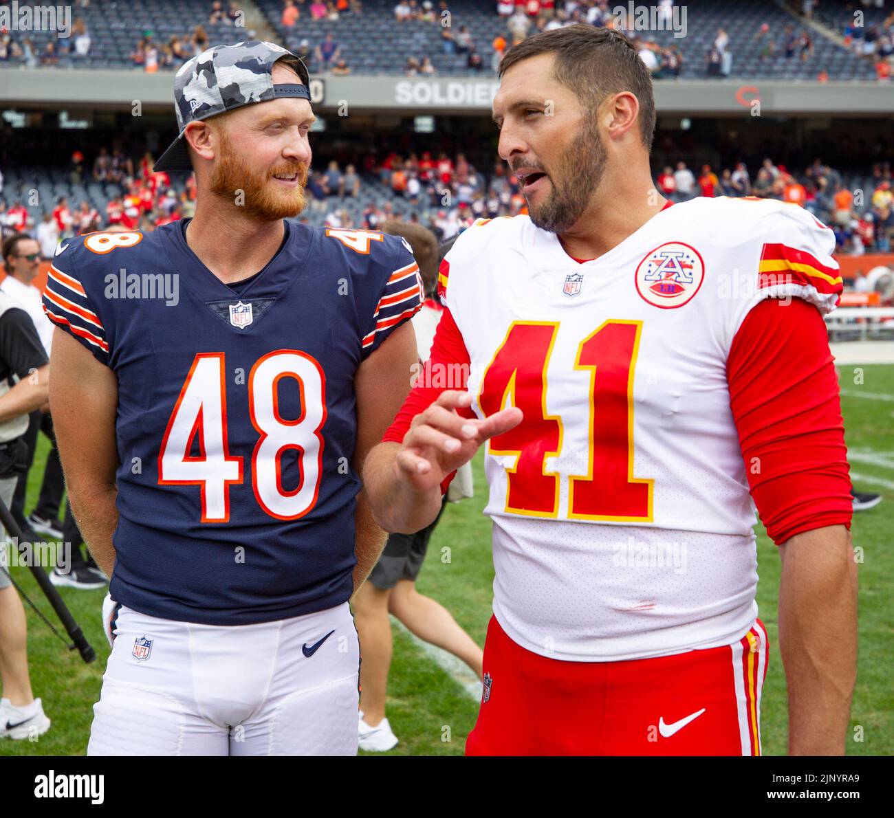
[[[521,409],[514,406],[484,420],[460,416],[457,409],[471,404],[469,392],[449,390],[413,418],[395,465],[416,491],[440,486],[446,476],[474,457],[485,440],[521,423]]]

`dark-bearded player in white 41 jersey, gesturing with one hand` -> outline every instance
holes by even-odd
[[[529,214],[444,259],[431,361],[468,363],[467,391],[414,388],[366,466],[376,519],[416,531],[486,442],[496,573],[467,753],[759,754],[755,505],[782,561],[789,751],[843,753],[856,564],[831,230],[778,201],[665,201],[651,79],[617,31],[538,34],[500,75],[498,150]]]

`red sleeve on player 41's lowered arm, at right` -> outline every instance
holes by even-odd
[[[762,301],[733,339],[727,380],[751,496],[773,542],[849,528],[839,384],[819,311],[802,299]]]

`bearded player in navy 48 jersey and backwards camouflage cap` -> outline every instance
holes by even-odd
[[[88,752],[355,755],[348,601],[384,543],[358,469],[409,391],[417,265],[286,221],[314,122],[297,57],[215,46],[174,97],[156,171],[194,170],[195,218],[64,242],[44,299],[72,507],[116,603]]]

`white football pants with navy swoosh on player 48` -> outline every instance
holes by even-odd
[[[348,603],[229,627],[122,606],[114,635],[88,755],[357,755]]]

